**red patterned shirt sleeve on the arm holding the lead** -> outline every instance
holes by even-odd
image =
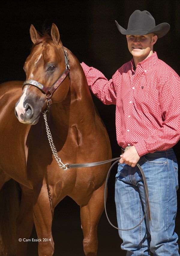
[[[180,77],[172,75],[159,88],[162,127],[134,146],[140,156],[173,147],[180,138]]]

